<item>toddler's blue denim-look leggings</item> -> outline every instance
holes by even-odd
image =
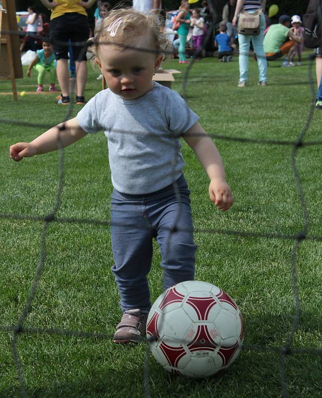
[[[151,308],[147,276],[152,264],[153,238],[161,252],[163,289],[194,279],[197,247],[193,241],[190,191],[183,175],[176,184],[179,198],[173,185],[143,196],[113,191],[112,272],[122,311],[139,308],[148,313]]]

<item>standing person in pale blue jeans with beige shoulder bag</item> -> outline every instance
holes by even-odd
[[[233,26],[237,26],[238,15],[244,9],[249,13],[253,13],[258,9],[262,8],[262,2],[266,2],[265,0],[237,0],[235,15],[233,18]],[[245,35],[238,34],[238,42],[239,42],[239,68],[240,68],[240,77],[238,87],[245,87],[248,79],[248,58],[249,58],[249,47],[250,41],[252,42],[254,53],[257,59],[258,66],[258,85],[266,86],[267,85],[267,60],[266,54],[263,48],[263,40],[264,40],[264,30],[266,27],[264,10],[260,15],[260,32],[258,35]]]

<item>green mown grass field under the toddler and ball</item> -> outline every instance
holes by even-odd
[[[189,72],[188,103],[209,133],[222,136],[214,136],[214,140],[235,197],[227,213],[216,210],[208,198],[208,178],[184,144],[184,172],[192,191],[198,244],[196,279],[220,286],[235,299],[245,322],[245,347],[231,367],[208,380],[171,376],[150,358],[149,388],[144,386],[145,344],[122,347],[104,336],[73,334],[83,331],[110,336],[121,316],[110,271],[112,186],[104,134],[86,136],[65,149],[64,184],[56,217],[106,223],[45,223],[37,217],[55,208],[59,154],[14,163],[9,160],[8,147],[33,139],[45,125],[59,123],[68,109],[56,105],[51,94],[27,94],[17,102],[0,94],[0,398],[24,394],[9,327],[19,321],[39,264],[44,267],[37,289],[23,332],[16,336],[27,397],[322,396],[321,145],[301,146],[292,165],[292,143],[304,128],[312,101],[308,63],[294,68],[271,63],[269,86],[258,87],[256,64],[250,58],[244,89],[237,87],[237,57],[224,64],[206,58]],[[186,65],[174,60],[163,67],[186,70]],[[97,75],[97,71],[89,71],[87,100],[100,89]],[[181,94],[183,77],[184,73],[175,75],[173,84]],[[35,90],[35,74],[32,79],[18,80],[17,85],[19,91]],[[0,92],[9,91],[10,82],[1,82]],[[76,115],[77,106],[70,117]],[[322,141],[321,122],[322,111],[315,111],[304,143]],[[244,142],[233,140],[237,137]],[[294,171],[300,177],[304,202]],[[297,245],[294,236],[306,227],[307,239]],[[152,300],[161,294],[162,280],[160,254],[155,248],[149,276]],[[292,265],[296,266],[296,278]],[[293,328],[294,282],[301,312],[291,348],[298,350],[285,359],[286,387],[282,389],[280,351]],[[45,330],[32,332],[35,328]],[[263,350],[252,349],[254,345]],[[301,352],[305,347],[313,352]],[[320,352],[314,351],[318,349]]]

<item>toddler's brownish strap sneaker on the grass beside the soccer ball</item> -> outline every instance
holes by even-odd
[[[141,309],[128,309],[124,312],[121,322],[116,326],[113,336],[114,343],[140,343],[146,336],[148,315]]]

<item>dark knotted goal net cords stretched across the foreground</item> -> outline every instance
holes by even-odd
[[[212,2],[210,1],[210,8],[211,12],[214,16],[214,20],[216,19],[217,15],[215,13],[214,7]],[[213,25],[208,28],[207,36],[204,40],[206,43],[210,34],[212,34]],[[15,31],[3,31],[2,33],[7,34],[17,34]],[[79,43],[79,45],[84,45],[84,43]],[[83,51],[85,51],[85,47],[83,47]],[[296,234],[283,234],[283,233],[267,233],[267,232],[257,232],[257,231],[242,231],[242,230],[227,230],[227,229],[215,229],[215,228],[195,228],[195,232],[200,233],[207,233],[212,235],[231,235],[231,236],[242,236],[242,237],[256,237],[256,238],[263,238],[263,239],[281,239],[281,240],[289,240],[293,241],[293,250],[289,259],[289,268],[291,274],[291,281],[292,281],[292,292],[294,298],[294,316],[291,328],[289,330],[288,336],[285,339],[285,344],[282,346],[262,346],[262,345],[254,345],[248,344],[244,342],[242,345],[242,350],[250,350],[250,351],[258,351],[258,352],[271,352],[277,353],[280,356],[280,388],[281,388],[281,396],[289,397],[288,393],[288,386],[287,386],[287,368],[286,362],[289,356],[294,354],[309,354],[321,357],[322,356],[322,349],[317,349],[313,347],[295,347],[293,346],[293,338],[295,333],[299,328],[299,321],[301,316],[301,300],[300,294],[298,289],[298,282],[297,282],[297,256],[299,252],[299,248],[304,240],[311,240],[311,241],[322,241],[322,236],[313,236],[308,235],[308,229],[310,226],[309,215],[307,210],[307,205],[305,201],[305,196],[303,192],[303,186],[301,182],[301,177],[297,165],[297,157],[299,151],[306,146],[314,146],[314,145],[321,145],[322,140],[315,140],[310,141],[306,140],[305,136],[306,133],[311,125],[313,114],[315,111],[315,87],[314,87],[314,78],[313,78],[313,65],[314,65],[314,56],[309,57],[309,65],[308,65],[308,81],[311,90],[312,102],[310,106],[309,113],[307,115],[306,120],[303,122],[303,128],[298,134],[296,140],[270,140],[270,139],[254,139],[254,138],[245,138],[245,137],[234,137],[229,135],[218,134],[216,132],[209,132],[208,135],[214,140],[228,140],[228,141],[236,141],[238,143],[247,143],[247,144],[263,144],[263,145],[282,145],[282,146],[289,146],[292,148],[291,153],[291,168],[295,178],[298,197],[301,202],[302,207],[302,218],[303,218],[303,229],[299,230]],[[185,75],[183,77],[183,97],[186,99],[186,84],[189,80],[189,73],[191,67],[193,66],[193,62],[188,65],[185,70]],[[71,102],[66,116],[64,118],[63,123],[60,125],[58,129],[63,131],[65,129],[64,122],[68,120],[72,113],[73,113],[73,103]],[[30,123],[30,122],[23,122],[16,119],[8,119],[8,118],[0,118],[1,123],[5,124],[12,124],[17,126],[26,126],[26,127],[38,127],[43,129],[48,129],[52,127],[51,125],[47,125],[46,123]],[[133,133],[124,131],[123,133]],[[12,349],[12,357],[16,367],[17,377],[20,383],[21,389],[21,397],[26,398],[27,394],[27,386],[24,379],[24,372],[23,366],[21,364],[21,358],[19,355],[18,344],[17,341],[22,334],[47,334],[47,335],[57,335],[57,336],[66,336],[66,337],[82,337],[88,339],[107,339],[111,340],[112,335],[102,334],[102,333],[92,333],[86,332],[82,330],[68,330],[68,329],[56,329],[56,328],[31,328],[24,326],[24,322],[28,316],[28,312],[31,309],[32,302],[35,298],[35,293],[39,282],[41,280],[42,272],[44,266],[46,264],[46,234],[48,233],[48,228],[51,223],[77,223],[77,224],[87,224],[87,225],[102,225],[102,226],[110,226],[111,223],[107,220],[101,219],[88,219],[88,218],[74,218],[74,217],[58,217],[57,212],[60,208],[62,203],[62,192],[63,192],[63,185],[64,185],[64,150],[59,144],[59,181],[58,181],[58,188],[57,194],[55,199],[55,205],[51,212],[46,215],[28,215],[28,214],[3,214],[0,213],[1,219],[8,219],[8,220],[29,220],[29,221],[40,221],[43,223],[42,231],[41,231],[41,239],[40,239],[40,258],[39,264],[36,269],[28,297],[24,304],[23,310],[20,314],[20,317],[15,325],[0,325],[0,331],[2,332],[9,332],[12,335],[11,339],[11,349]],[[175,230],[175,228],[174,228]],[[170,231],[174,233],[175,231]],[[147,345],[146,350],[146,358],[145,358],[145,365],[144,365],[144,373],[143,373],[143,384],[144,384],[144,391],[145,397],[151,397],[150,391],[150,350]]]

